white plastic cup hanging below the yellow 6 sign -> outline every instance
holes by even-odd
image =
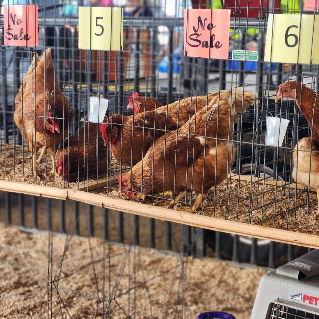
[[[267,116],[267,124],[266,124],[266,145],[267,146],[282,146],[289,122],[290,121],[287,119]]]

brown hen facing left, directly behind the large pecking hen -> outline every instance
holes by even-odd
[[[208,94],[208,101],[216,95],[218,92]],[[165,129],[176,130],[185,124],[195,114],[195,110],[206,106],[206,101],[207,95],[204,95],[178,100],[157,108],[156,112],[153,110],[130,116],[115,114],[109,117],[107,122],[104,121],[107,124],[100,125],[104,144],[108,144],[109,151],[119,163],[126,166],[135,165],[145,156],[154,140],[165,133]]]

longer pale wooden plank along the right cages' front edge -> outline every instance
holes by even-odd
[[[73,200],[97,206],[108,207],[118,211],[125,211],[145,217],[167,220],[175,223],[217,230],[225,233],[252,236],[310,248],[319,248],[319,236],[315,235],[190,214],[187,212],[176,211],[112,197],[105,197],[78,190],[69,190],[68,195],[69,198]]]

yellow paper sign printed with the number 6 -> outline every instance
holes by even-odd
[[[318,15],[303,14],[300,19],[299,14],[270,14],[264,60],[279,63],[318,64],[318,39]]]

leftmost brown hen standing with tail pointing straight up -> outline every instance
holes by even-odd
[[[33,56],[15,103],[14,122],[32,152],[32,173],[38,175],[37,178],[41,175],[36,171],[35,154],[39,148],[46,147],[53,166],[49,176],[57,175],[54,153],[63,137],[68,136],[73,110],[55,78],[50,48],[41,61],[37,54]]]

